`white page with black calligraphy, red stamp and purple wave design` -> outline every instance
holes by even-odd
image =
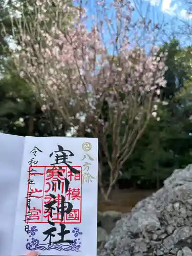
[[[33,151],[34,147],[38,150]],[[67,163],[79,170],[80,174],[74,176],[67,164],[61,163],[62,158],[59,158],[60,163],[56,163],[56,154],[63,156],[62,147],[64,153],[68,155]],[[58,152],[59,150],[60,152]],[[71,151],[73,154],[66,151]],[[31,164],[29,162],[31,159],[33,159],[32,165],[39,167],[33,167],[37,172],[31,171],[29,177],[29,165]],[[53,168],[54,166],[55,168]],[[62,169],[59,170],[62,176],[58,175],[56,166],[62,166]],[[35,250],[41,255],[96,256],[97,174],[97,139],[26,137],[11,255],[26,255],[30,250]],[[74,177],[76,177],[76,180],[74,180]],[[53,180],[53,178],[55,179]],[[65,191],[66,179],[64,178],[67,178],[70,182],[67,194]],[[33,180],[33,184],[27,185],[28,180]],[[60,180],[60,189],[58,180]],[[56,199],[51,198],[50,194],[56,196]],[[32,196],[38,196],[38,198]],[[65,212],[63,221],[61,220],[60,209],[57,212],[56,208],[56,206],[61,207],[61,201],[58,205],[57,203],[54,204],[55,209],[52,211],[52,218],[50,217],[50,211],[46,212],[48,208],[45,207],[47,203],[53,202],[53,200],[57,201],[58,197],[61,200],[61,196],[66,198],[66,210],[70,206],[68,202],[71,202],[73,206],[69,214]],[[30,199],[30,205],[29,201],[27,205],[27,199]],[[47,221],[48,217],[46,216],[48,215],[52,225]],[[60,225],[60,223],[62,224]],[[60,232],[63,223],[66,225],[65,230],[70,231],[70,233],[65,234],[64,240],[71,240],[73,241],[72,244],[69,242],[53,243],[61,239]],[[27,228],[29,228],[28,233],[26,232]],[[42,233],[50,228],[56,228],[52,232],[54,237],[51,237],[51,243],[49,243],[50,237],[45,240],[47,234]]]

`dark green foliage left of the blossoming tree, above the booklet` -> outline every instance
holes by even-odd
[[[29,4],[33,6],[30,10]],[[38,9],[34,1],[19,0],[16,5],[15,1],[8,1],[5,5],[5,0],[0,0],[0,132],[21,136],[65,136],[68,129],[66,123],[59,121],[54,109],[46,113],[41,111],[41,104],[37,102],[31,85],[19,77],[9,56],[7,39],[13,32],[18,32],[12,30],[9,14],[15,14],[20,8],[25,12],[25,22],[32,20]],[[49,9],[48,14],[56,15],[52,11],[53,8]],[[17,20],[14,22],[16,24]],[[49,24],[44,25],[48,27]]]

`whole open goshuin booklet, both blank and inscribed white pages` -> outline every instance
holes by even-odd
[[[98,140],[0,134],[0,142],[0,255],[95,256]]]

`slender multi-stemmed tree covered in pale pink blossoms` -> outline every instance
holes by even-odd
[[[30,10],[31,16],[20,9],[20,17],[12,17],[20,46],[12,52],[15,66],[44,102],[43,111],[54,106],[74,133],[99,138],[98,182],[108,200],[148,120],[158,115],[166,54],[154,46],[157,26],[136,19],[123,0],[89,6],[38,0]],[[84,174],[83,181],[90,177]]]

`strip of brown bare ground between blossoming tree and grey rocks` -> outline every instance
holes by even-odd
[[[98,210],[116,210],[120,212],[129,212],[137,202],[150,196],[154,190],[133,190],[122,189],[114,190],[111,195],[111,202],[103,202],[101,196],[98,196]]]

